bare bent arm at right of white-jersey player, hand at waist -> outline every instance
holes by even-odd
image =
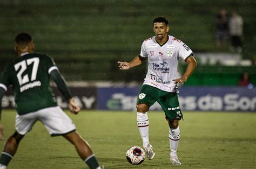
[[[179,79],[175,79],[176,83],[184,83],[187,81],[187,79],[190,77],[190,75],[194,72],[194,69],[197,67],[197,61],[194,59],[193,55],[191,55],[189,58],[185,60],[187,62],[187,69],[186,72],[183,74],[183,76]]]

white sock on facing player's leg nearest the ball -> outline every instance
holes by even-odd
[[[147,117],[147,112],[137,112],[137,124],[145,148],[149,144],[149,117]]]

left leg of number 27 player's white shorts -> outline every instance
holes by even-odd
[[[32,126],[37,121],[38,114],[36,112],[31,112],[25,115],[16,115],[15,118],[15,129],[20,135],[25,135],[26,132],[32,129]]]

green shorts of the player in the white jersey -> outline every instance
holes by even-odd
[[[165,112],[165,118],[173,121],[181,119],[183,115],[179,107],[178,94],[160,90],[156,87],[143,85],[137,97],[138,104],[147,104],[149,107],[155,102],[161,105]]]

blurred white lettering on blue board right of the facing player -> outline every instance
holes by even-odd
[[[227,93],[224,96],[186,96],[179,97],[182,110],[204,111],[255,111],[256,97],[240,96],[236,93]]]

